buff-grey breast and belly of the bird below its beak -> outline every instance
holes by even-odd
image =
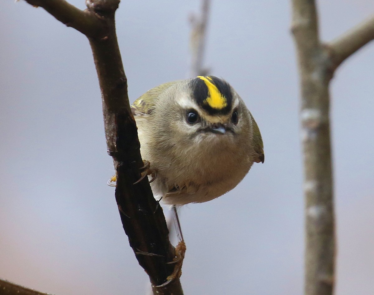
[[[196,142],[143,140],[141,153],[157,170],[151,183],[155,198],[175,205],[220,197],[233,189],[253,164],[253,149],[230,135],[212,134]]]

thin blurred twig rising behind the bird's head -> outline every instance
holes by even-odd
[[[210,0],[201,1],[200,15],[192,14],[191,23],[191,74],[190,77],[206,76],[208,70],[203,68],[203,57],[205,51],[206,25],[208,23]]]

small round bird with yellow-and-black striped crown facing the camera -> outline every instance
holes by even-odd
[[[131,106],[154,197],[183,205],[233,189],[264,162],[260,130],[226,81],[198,76],[157,86]]]

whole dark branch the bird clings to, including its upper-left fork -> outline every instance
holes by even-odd
[[[175,251],[169,242],[162,208],[153,198],[147,177],[134,185],[141,177],[143,161],[117,43],[114,13],[119,0],[86,0],[85,11],[64,0],[25,1],[45,8],[89,39],[101,89],[107,149],[116,168],[115,195],[122,225],[152,285],[162,285],[174,270],[174,264],[168,262],[174,260]],[[154,294],[183,294],[179,278],[163,288],[154,288]]]

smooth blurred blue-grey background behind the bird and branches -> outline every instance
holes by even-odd
[[[84,9],[83,0],[70,3]],[[374,12],[318,1],[331,40]],[[116,13],[129,97],[190,72],[199,0],[125,1]],[[122,229],[88,40],[24,1],[1,1],[0,277],[59,294],[145,294]],[[254,115],[265,146],[233,191],[180,212],[185,294],[303,292],[303,170],[290,1],[213,0],[205,63]],[[374,44],[331,85],[336,294],[374,292]]]

